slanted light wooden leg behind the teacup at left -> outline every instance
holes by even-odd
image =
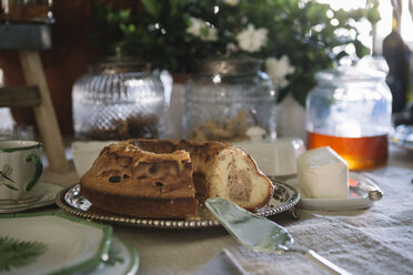
[[[43,150],[48,156],[49,167],[59,173],[68,172],[69,163],[66,159],[63,140],[56,118],[39,52],[20,50],[19,57],[26,83],[28,85],[37,85],[40,91],[41,104],[34,106],[33,110],[40,136],[43,142]]]

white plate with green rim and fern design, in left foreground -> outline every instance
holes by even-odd
[[[1,274],[74,274],[108,256],[112,227],[58,212],[0,216]],[[7,249],[3,249],[6,252]]]

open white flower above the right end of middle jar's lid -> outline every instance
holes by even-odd
[[[255,29],[253,24],[236,34],[240,49],[246,52],[256,52],[266,44],[269,30],[265,28]]]

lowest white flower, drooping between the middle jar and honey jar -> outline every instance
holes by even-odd
[[[290,64],[290,59],[286,55],[282,55],[279,60],[276,58],[268,58],[265,60],[265,69],[274,86],[280,89],[289,84],[285,77],[295,71],[295,68]]]

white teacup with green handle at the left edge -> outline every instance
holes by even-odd
[[[43,171],[41,154],[37,141],[0,141],[0,201],[32,196]]]

